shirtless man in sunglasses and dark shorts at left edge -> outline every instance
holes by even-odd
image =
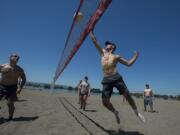
[[[8,120],[12,120],[15,110],[14,102],[17,101],[17,94],[21,93],[26,82],[26,76],[24,70],[17,65],[19,60],[17,54],[12,54],[9,60],[9,64],[0,65],[0,100],[3,97],[7,100]]]

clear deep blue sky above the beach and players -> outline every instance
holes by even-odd
[[[21,56],[29,81],[51,82],[78,0],[0,0],[0,63]],[[117,54],[140,57],[132,67],[118,65],[130,91],[149,83],[156,93],[180,94],[180,2],[113,0],[95,27],[97,39],[117,44]],[[100,57],[89,37],[57,83],[75,86],[85,75],[101,88]]]

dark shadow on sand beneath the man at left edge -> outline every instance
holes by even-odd
[[[36,119],[38,119],[38,116],[34,116],[34,117],[18,117],[18,118],[13,118],[11,121],[34,121]],[[8,119],[5,118],[0,118],[0,125],[6,122],[10,122]]]

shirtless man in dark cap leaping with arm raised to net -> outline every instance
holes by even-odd
[[[132,99],[132,97],[130,96],[128,88],[126,87],[126,84],[123,81],[123,78],[118,73],[117,68],[116,68],[118,63],[121,63],[128,67],[132,66],[133,63],[138,58],[139,52],[135,52],[134,56],[130,60],[126,60],[123,57],[114,54],[114,51],[116,50],[116,45],[114,43],[106,41],[105,43],[106,47],[102,49],[92,31],[90,32],[90,37],[95,47],[97,48],[97,50],[99,51],[101,55],[102,69],[104,73],[104,78],[102,80],[103,105],[109,111],[113,112],[117,123],[120,124],[119,112],[114,108],[114,106],[110,102],[110,97],[113,91],[113,87],[116,87],[119,90],[119,93],[124,95],[124,97],[130,104],[130,106],[132,107],[132,109],[134,110],[138,118],[140,118],[141,121],[145,122],[145,118],[138,112],[136,104],[134,100]]]

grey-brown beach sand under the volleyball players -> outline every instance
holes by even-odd
[[[83,111],[77,94],[24,89],[15,103],[13,121],[6,121],[5,101],[0,103],[0,135],[180,135],[180,101],[157,99],[151,113],[143,111],[142,99],[133,98],[146,123],[135,116],[122,96],[111,98],[120,113],[118,125],[102,106],[100,95],[91,95],[87,111]]]

